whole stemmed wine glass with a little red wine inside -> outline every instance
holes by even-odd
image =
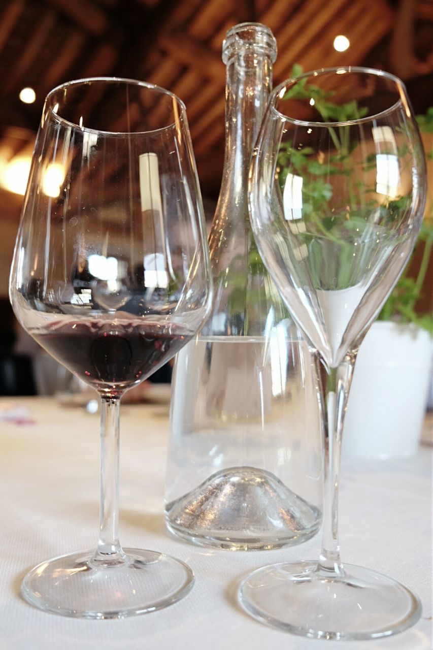
[[[25,330],[101,396],[100,526],[95,552],[53,558],[27,574],[29,603],[119,618],[163,608],[192,588],[183,562],[118,541],[119,408],[125,391],[202,326],[210,277],[183,103],[130,79],[81,79],[51,91],[10,300]]]

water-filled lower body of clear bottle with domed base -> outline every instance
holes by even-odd
[[[231,551],[313,536],[321,521],[317,396],[291,320],[267,336],[200,336],[179,352],[173,386],[168,528]]]

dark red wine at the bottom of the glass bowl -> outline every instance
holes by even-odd
[[[32,332],[43,348],[107,395],[150,376],[189,341],[191,333],[150,323],[101,320],[50,325]]]

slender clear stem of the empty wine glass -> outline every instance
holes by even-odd
[[[338,541],[338,487],[341,435],[355,359],[356,355],[349,353],[336,368],[328,368],[319,361],[324,411],[324,495],[322,550],[317,571],[336,577],[344,574]]]

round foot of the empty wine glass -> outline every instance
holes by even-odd
[[[293,562],[257,569],[241,583],[239,602],[272,627],[332,640],[391,636],[421,616],[417,597],[392,578],[353,565],[338,578],[316,568]]]

